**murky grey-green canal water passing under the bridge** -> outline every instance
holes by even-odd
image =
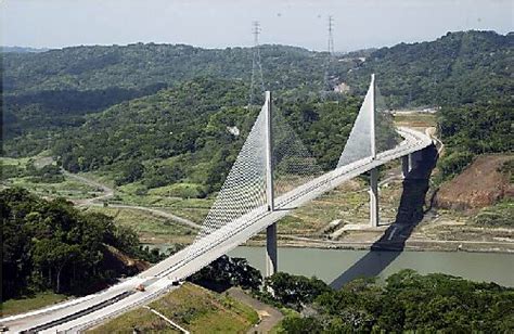
[[[229,253],[244,257],[265,272],[265,248],[241,246]],[[279,248],[279,269],[313,277],[335,287],[362,275],[383,280],[401,269],[422,274],[441,272],[477,282],[514,286],[514,255],[466,252],[370,252],[319,248]]]

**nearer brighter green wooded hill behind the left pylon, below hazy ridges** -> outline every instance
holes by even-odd
[[[245,98],[237,81],[189,81],[92,115],[59,136],[54,154],[74,172],[110,170],[118,185],[138,182],[146,190],[180,181],[205,196],[221,187],[255,121],[259,108],[243,107]],[[359,103],[351,97],[279,98],[275,107],[329,169],[337,163]],[[230,131],[234,127],[239,133]]]

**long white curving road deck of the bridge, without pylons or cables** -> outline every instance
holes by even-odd
[[[393,159],[421,151],[433,144],[425,133],[407,128],[397,129],[403,138],[396,147],[378,153],[375,158],[362,158],[326,172],[279,197],[274,211],[266,205],[259,206],[239,219],[221,227],[138,277],[130,278],[105,291],[57,304],[33,312],[0,319],[11,332],[78,332],[95,325],[107,318],[150,303],[176,288],[172,282],[185,279],[207,266],[221,255],[246,242],[249,237],[321,194],[338,187],[363,172]],[[139,284],[145,292],[134,292]]]

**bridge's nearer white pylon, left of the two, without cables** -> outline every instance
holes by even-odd
[[[271,92],[266,91],[266,202],[268,211],[274,211],[273,198],[273,132],[271,129],[272,119]],[[278,269],[277,251],[277,222],[273,222],[266,229],[266,277],[270,277]]]

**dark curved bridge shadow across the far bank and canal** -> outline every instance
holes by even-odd
[[[375,277],[403,252],[407,240],[423,219],[428,181],[438,158],[434,145],[424,149],[420,154],[422,159],[403,180],[403,192],[395,222],[373,243],[367,255],[330,284],[332,287],[340,288],[356,278]]]

